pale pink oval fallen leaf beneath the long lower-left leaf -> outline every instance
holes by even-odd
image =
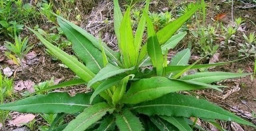
[[[20,127],[20,126],[28,123],[29,121],[32,121],[35,117],[36,117],[36,115],[33,115],[33,114],[19,115],[12,121],[9,121],[8,125]]]

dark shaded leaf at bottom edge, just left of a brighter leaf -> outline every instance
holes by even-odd
[[[160,129],[160,131],[179,131],[174,125],[160,117],[150,117],[150,120],[154,125],[156,125],[156,127],[158,127],[158,129]]]

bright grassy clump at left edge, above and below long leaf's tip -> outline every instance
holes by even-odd
[[[4,104],[5,101],[8,101],[13,94],[13,80],[2,76],[0,72],[0,105]],[[0,109],[0,123],[2,123],[3,131],[6,131],[5,121],[9,117],[9,112],[6,110]]]

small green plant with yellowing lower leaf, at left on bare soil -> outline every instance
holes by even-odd
[[[28,37],[24,38],[22,41],[20,36],[15,36],[15,43],[13,44],[6,41],[5,47],[11,52],[10,53],[6,51],[6,56],[14,61],[14,63],[16,63],[17,65],[20,65],[22,69],[22,74],[24,74],[24,67],[22,61],[28,51],[33,48],[33,45],[28,45]]]

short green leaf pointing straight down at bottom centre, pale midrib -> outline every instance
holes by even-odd
[[[140,119],[136,117],[128,109],[116,114],[116,125],[120,131],[142,131],[142,123]]]

